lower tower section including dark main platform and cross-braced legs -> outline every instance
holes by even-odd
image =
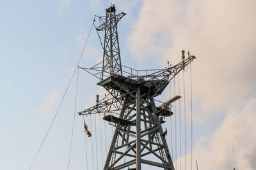
[[[114,77],[123,78],[119,75]],[[141,169],[141,164],[173,170],[161,125],[164,123],[160,113],[162,110],[156,107],[154,98],[150,95],[156,91],[154,87],[156,88],[157,83],[138,80],[129,82],[129,78],[124,79],[126,81],[108,78],[98,83],[106,89],[115,89],[124,101],[119,117],[104,117],[116,127],[104,170],[134,166]]]

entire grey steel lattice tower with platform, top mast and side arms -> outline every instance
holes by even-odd
[[[173,170],[162,124],[165,117],[173,115],[170,104],[180,96],[160,106],[156,106],[154,97],[161,95],[168,83],[195,56],[188,54],[185,58],[182,51],[182,61],[165,69],[136,70],[123,66],[117,23],[124,15],[116,15],[115,6],[110,6],[105,16],[95,16],[99,19],[99,26],[95,26],[97,32],[105,32],[104,45],[100,40],[104,50],[103,60],[93,67],[81,69],[99,78],[97,85],[104,87],[109,94],[95,106],[79,112],[79,115],[103,113],[103,119],[115,126],[104,170],[125,167],[141,170],[141,164]]]

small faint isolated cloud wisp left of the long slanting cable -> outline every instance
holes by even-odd
[[[42,104],[40,108],[38,108],[38,111],[42,113],[49,113],[49,111],[51,111],[52,107],[58,101],[59,94],[60,92],[53,90],[45,103]]]

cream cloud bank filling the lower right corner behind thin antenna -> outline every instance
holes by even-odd
[[[248,101],[243,110],[230,111],[216,132],[202,136],[193,150],[193,169],[196,169],[195,159],[198,169],[232,169],[232,143],[236,169],[256,169],[255,110],[256,98]],[[190,153],[186,157],[190,167]],[[184,157],[181,161],[184,168]],[[177,165],[179,169],[179,163]]]

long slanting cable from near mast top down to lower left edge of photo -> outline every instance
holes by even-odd
[[[92,24],[92,26],[93,26],[93,24]],[[53,117],[53,119],[52,119],[52,122],[51,122],[51,124],[50,124],[50,126],[49,126],[49,128],[48,128],[48,130],[47,130],[47,132],[46,132],[46,134],[45,134],[45,137],[44,137],[44,139],[43,139],[43,141],[42,141],[42,143],[41,143],[41,145],[40,145],[40,147],[39,147],[39,149],[38,149],[38,152],[36,153],[36,156],[35,156],[35,158],[33,159],[33,162],[32,162],[32,164],[31,164],[31,166],[29,167],[29,170],[31,170],[31,168],[32,168],[33,165],[35,164],[35,160],[36,160],[36,158],[38,157],[38,154],[40,153],[40,150],[42,149],[42,146],[43,146],[44,143],[45,143],[45,139],[47,138],[47,136],[48,136],[48,134],[49,134],[49,131],[51,130],[52,124],[54,123],[54,120],[55,120],[55,118],[57,117],[57,115],[58,115],[58,113],[59,113],[61,104],[63,103],[63,100],[64,100],[64,98],[65,98],[65,96],[66,96],[66,94],[67,94],[67,91],[68,91],[68,89],[69,89],[69,87],[70,87],[70,84],[71,84],[71,82],[72,82],[72,80],[73,80],[73,78],[74,78],[74,74],[76,73],[76,70],[77,70],[77,67],[78,67],[78,65],[79,65],[79,62],[80,62],[80,60],[81,60],[81,58],[82,58],[82,56],[83,56],[85,46],[86,46],[86,44],[87,44],[87,42],[88,42],[90,33],[91,33],[91,31],[92,31],[92,26],[91,26],[91,28],[90,28],[89,34],[88,34],[88,36],[87,36],[87,38],[86,38],[86,41],[85,41],[85,43],[84,43],[83,50],[82,50],[81,55],[80,55],[80,57],[79,57],[79,60],[78,60],[78,62],[77,62],[76,68],[75,68],[75,70],[74,70],[74,72],[73,72],[73,74],[72,74],[72,76],[71,76],[71,78],[70,78],[70,81],[69,81],[69,83],[68,83],[67,89],[65,90],[65,93],[64,93],[64,95],[63,95],[63,97],[62,97],[62,99],[61,99],[60,105],[58,106],[58,109],[57,109],[57,111],[56,111],[56,113],[55,113],[55,115],[54,115],[54,117]]]

